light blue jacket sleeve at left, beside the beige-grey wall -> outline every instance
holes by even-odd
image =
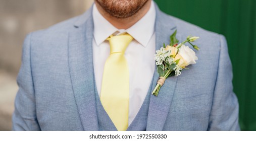
[[[22,64],[17,77],[19,91],[15,98],[13,130],[40,130],[36,118],[35,91],[30,63],[30,38],[23,44]]]

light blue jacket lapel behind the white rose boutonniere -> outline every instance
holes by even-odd
[[[176,30],[174,21],[166,21],[167,16],[163,14],[156,6],[156,50],[170,43],[170,35]],[[181,36],[177,33],[176,37],[181,41]],[[155,89],[159,75],[157,73],[157,66],[153,75],[152,89]],[[158,97],[150,95],[150,103],[147,118],[146,130],[163,130],[167,115],[169,113],[170,105],[174,95],[177,77],[167,78],[165,84],[159,91]]]

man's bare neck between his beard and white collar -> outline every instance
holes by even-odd
[[[107,13],[100,5],[95,2],[95,5],[99,13],[108,20],[117,29],[128,29],[138,22],[149,10],[151,1],[147,1],[146,4],[134,15],[128,18],[116,18]]]

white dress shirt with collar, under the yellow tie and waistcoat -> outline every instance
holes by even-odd
[[[155,19],[156,10],[151,2],[148,12],[129,29],[117,29],[97,10],[92,11],[93,32],[93,66],[96,87],[100,96],[104,65],[110,55],[109,41],[112,34],[129,33],[134,39],[125,52],[129,67],[129,125],[136,117],[150,87],[155,70],[154,54],[156,52]]]

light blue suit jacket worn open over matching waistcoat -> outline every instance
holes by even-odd
[[[239,130],[225,38],[156,9],[157,50],[176,29],[180,41],[199,36],[201,49],[196,64],[168,78],[158,97],[150,96],[146,130]],[[98,130],[92,39],[92,9],[26,37],[14,130]],[[155,71],[152,89],[158,77]]]

